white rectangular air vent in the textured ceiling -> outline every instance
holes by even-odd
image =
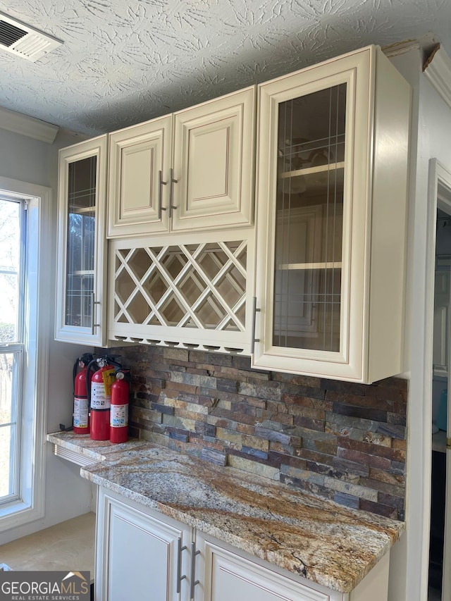
[[[37,61],[61,44],[58,39],[0,13],[0,49]]]

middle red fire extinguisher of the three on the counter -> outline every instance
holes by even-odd
[[[118,364],[111,357],[97,357],[91,361],[88,370],[96,366],[87,386],[89,404],[91,407],[91,438],[92,440],[109,440],[110,438],[110,407],[111,385]]]

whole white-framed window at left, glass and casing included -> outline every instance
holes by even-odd
[[[50,200],[0,178],[0,531],[44,516]]]

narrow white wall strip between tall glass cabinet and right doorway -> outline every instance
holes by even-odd
[[[406,349],[409,349],[407,533],[393,547],[390,600],[425,601],[431,492],[433,233],[428,207],[429,159],[451,171],[451,109],[421,72],[419,49],[393,58],[414,88],[409,197]],[[431,255],[432,253],[432,255]]]

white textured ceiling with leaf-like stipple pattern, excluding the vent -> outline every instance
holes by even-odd
[[[434,32],[451,0],[6,0],[63,41],[31,63],[0,51],[0,106],[94,135],[367,44]]]

